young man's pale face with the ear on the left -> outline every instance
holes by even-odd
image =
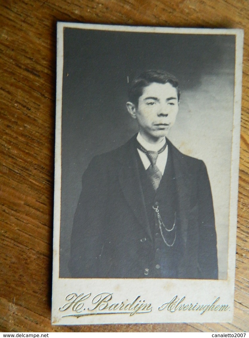
[[[153,82],[143,89],[137,107],[132,105],[132,112],[129,107],[128,111],[137,119],[140,134],[146,141],[157,143],[167,136],[175,123],[178,113],[177,90],[170,83]]]

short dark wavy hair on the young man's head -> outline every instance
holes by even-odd
[[[180,88],[177,78],[163,70],[146,70],[142,74],[136,76],[128,90],[129,100],[135,105],[138,105],[138,99],[143,94],[143,89],[153,82],[172,84],[172,86],[177,90],[177,97],[179,101]]]

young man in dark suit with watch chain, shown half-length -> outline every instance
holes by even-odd
[[[95,156],[83,174],[71,277],[218,278],[205,164],[167,139],[179,98],[177,79],[165,71],[145,71],[131,83],[126,105],[139,132]]]

